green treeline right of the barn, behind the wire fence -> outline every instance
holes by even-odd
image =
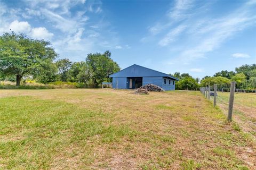
[[[174,77],[180,79],[176,83],[176,89],[179,90],[198,90],[199,87],[213,86],[213,84],[217,84],[220,86],[226,86],[231,81],[236,81],[237,84],[242,84],[241,88],[244,89],[253,89],[256,87],[256,64],[252,65],[242,65],[240,67],[236,67],[235,71],[227,71],[222,70],[213,75],[213,77],[206,76],[201,81],[198,78],[193,78],[188,73],[180,74],[179,72],[175,72],[174,74],[170,74]],[[246,84],[246,85],[245,85]]]

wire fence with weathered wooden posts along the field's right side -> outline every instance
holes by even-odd
[[[256,138],[256,79],[210,84],[200,91],[214,106],[221,108],[229,122],[234,119]]]

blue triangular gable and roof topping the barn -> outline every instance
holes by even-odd
[[[148,69],[146,67],[133,64],[126,69],[118,71],[114,74],[109,75],[110,78],[116,77],[166,77],[171,78],[173,80],[179,80],[178,78],[172,77],[169,74],[165,74],[159,71],[155,71],[152,69]]]

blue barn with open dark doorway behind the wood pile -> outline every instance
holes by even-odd
[[[109,77],[113,78],[113,88],[115,89],[135,89],[146,84],[155,84],[164,90],[175,90],[175,80],[179,80],[169,74],[136,64],[111,74]]]

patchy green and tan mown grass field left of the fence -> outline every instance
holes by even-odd
[[[0,169],[255,169],[255,141],[199,92],[0,90]]]

